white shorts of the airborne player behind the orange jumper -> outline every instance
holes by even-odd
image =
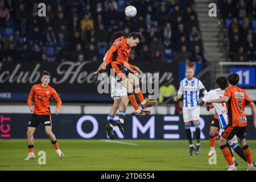
[[[122,96],[127,96],[127,89],[122,85],[121,82],[117,82],[117,80],[112,76],[110,78],[111,84],[111,98],[118,99]]]

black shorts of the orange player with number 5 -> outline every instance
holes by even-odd
[[[244,139],[246,137],[246,126],[226,126],[225,131],[221,134],[222,137],[226,139],[232,139],[234,135],[237,135],[238,138]]]

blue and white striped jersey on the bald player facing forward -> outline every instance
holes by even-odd
[[[199,107],[199,92],[201,89],[205,89],[204,85],[197,78],[193,78],[191,81],[187,78],[181,80],[177,94],[183,94],[183,107]],[[204,91],[205,94],[207,94],[207,90]]]

